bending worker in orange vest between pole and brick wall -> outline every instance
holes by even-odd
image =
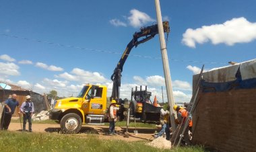
[[[185,145],[190,145],[190,138],[189,138],[189,126],[192,125],[192,120],[189,120],[189,125],[185,126],[185,121],[189,118],[189,112],[185,110],[185,108],[181,106],[174,105],[173,110],[177,112],[177,119],[175,120],[175,123],[178,124],[177,129],[175,132],[172,134],[172,138],[170,139],[170,142],[174,144],[175,138],[175,144],[178,143],[179,137],[181,133],[183,132],[183,129],[185,129],[184,135],[183,135],[183,144]],[[192,126],[191,126],[192,127]]]

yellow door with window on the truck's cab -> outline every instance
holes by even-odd
[[[86,95],[84,112],[86,114],[103,114],[102,87],[93,86]]]

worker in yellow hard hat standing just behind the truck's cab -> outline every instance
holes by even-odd
[[[117,121],[117,107],[116,107],[116,100],[111,100],[110,106],[109,106],[109,128],[108,128],[108,135],[117,135],[115,133],[115,122]]]

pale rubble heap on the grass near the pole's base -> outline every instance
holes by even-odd
[[[146,145],[150,145],[152,147],[160,148],[160,149],[171,149],[172,145],[170,141],[167,141],[164,137],[158,137],[154,139],[154,141],[147,143]]]

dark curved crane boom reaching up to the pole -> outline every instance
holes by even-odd
[[[162,22],[164,32],[167,34],[170,32],[170,27],[168,22]],[[154,36],[158,34],[158,24],[155,24],[153,26],[148,27],[142,27],[140,28],[140,32],[135,32],[133,34],[133,39],[127,44],[127,47],[125,48],[125,51],[123,52],[123,55],[121,56],[121,59],[119,60],[119,63],[117,63],[117,67],[115,67],[113,75],[111,75],[111,80],[113,81],[113,90],[112,95],[110,97],[110,100],[117,100],[119,101],[119,95],[120,95],[120,86],[121,86],[121,73],[123,71],[123,65],[125,64],[125,61],[127,60],[131,49],[137,45],[147,42],[148,40],[154,38]],[[143,38],[144,37],[144,38]],[[142,38],[139,40],[139,38]]]

